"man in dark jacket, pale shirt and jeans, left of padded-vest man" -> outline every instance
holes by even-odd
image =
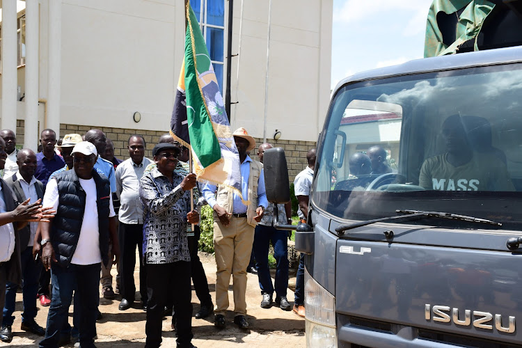
[[[34,173],[36,170],[36,155],[33,150],[22,149],[17,155],[17,166],[19,171],[10,177],[6,177],[6,183],[15,193],[19,202],[24,202],[28,198],[30,203],[35,203],[43,198],[44,187],[42,182],[36,180]],[[24,302],[24,312],[22,313],[22,330],[44,335],[45,330],[35,322],[37,313],[36,295],[38,294],[38,279],[42,265],[33,260],[33,242],[38,227],[38,222],[30,222],[28,226],[18,231],[20,239],[20,260],[22,262],[22,297]],[[2,326],[4,335],[13,335],[10,327],[13,325],[15,317],[16,292],[18,284],[8,282],[6,285],[6,303],[3,307]]]

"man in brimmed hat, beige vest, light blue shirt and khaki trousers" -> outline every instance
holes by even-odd
[[[248,156],[255,148],[255,140],[246,129],[238,128],[232,134],[239,152],[241,191],[248,205],[230,187],[206,184],[203,196],[214,209],[214,251],[216,255],[216,307],[214,325],[226,326],[225,311],[228,308],[228,284],[233,276],[234,322],[241,329],[248,328],[246,321],[246,267],[250,261],[254,228],[261,221],[268,205],[264,190],[262,164]]]

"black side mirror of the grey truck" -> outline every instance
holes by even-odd
[[[290,184],[283,148],[271,148],[264,151],[263,171],[267,200],[276,204],[289,202]]]

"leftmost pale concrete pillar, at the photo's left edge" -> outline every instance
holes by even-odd
[[[2,125],[16,132],[17,105],[16,0],[2,1]]]

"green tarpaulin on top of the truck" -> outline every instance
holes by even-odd
[[[477,35],[482,29],[484,19],[495,7],[494,3],[486,0],[434,0],[429,8],[426,23],[426,39],[424,56],[443,56],[445,54],[457,53],[459,47],[468,40],[475,40],[474,50],[478,51]],[[464,8],[461,15],[457,11]],[[451,44],[443,42],[443,34],[438,27],[437,14],[445,13],[458,18],[455,28],[455,40]]]

